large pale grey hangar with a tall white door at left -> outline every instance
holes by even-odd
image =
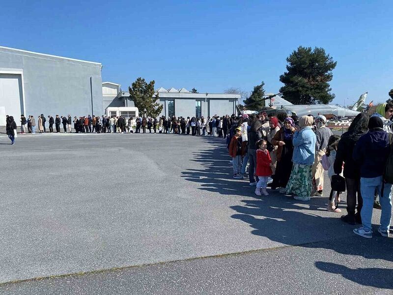
[[[5,115],[103,114],[101,63],[0,46],[0,125]]]

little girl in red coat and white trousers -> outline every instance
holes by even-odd
[[[267,181],[272,176],[272,159],[270,158],[269,151],[267,150],[267,141],[261,139],[258,143],[258,149],[256,150],[256,171],[255,175],[258,177],[258,183],[255,188],[255,195],[268,196],[269,193],[266,191]]]

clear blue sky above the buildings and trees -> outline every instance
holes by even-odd
[[[392,1],[2,1],[0,45],[103,64],[128,86],[277,92],[288,55],[323,47],[335,103],[393,88]]]

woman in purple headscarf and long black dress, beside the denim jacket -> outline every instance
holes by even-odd
[[[293,144],[292,138],[295,132],[295,122],[292,118],[284,119],[282,127],[272,139],[272,144],[277,147],[276,174],[272,183],[272,189],[280,188],[280,193],[285,193],[292,170]]]

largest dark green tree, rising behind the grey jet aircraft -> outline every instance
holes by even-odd
[[[280,76],[282,98],[293,104],[328,104],[335,98],[328,82],[337,62],[323,48],[299,46],[286,61],[287,72]]]

